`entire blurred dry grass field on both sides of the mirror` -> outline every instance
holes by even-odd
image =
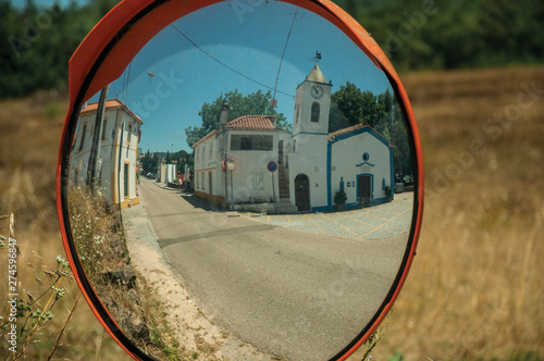
[[[406,360],[544,360],[544,67],[401,78],[422,138],[425,212],[418,256],[372,359],[401,351]],[[66,107],[55,94],[0,103],[0,215],[15,212],[20,281],[33,294],[42,269],[63,254],[54,169]],[[63,286],[29,360],[46,359],[78,294],[74,282]],[[82,301],[53,359],[129,358]]]

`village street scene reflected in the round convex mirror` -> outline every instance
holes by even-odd
[[[353,345],[409,249],[397,98],[345,34],[288,3],[220,2],[154,36],[72,129],[73,239],[119,327],[157,358]]]

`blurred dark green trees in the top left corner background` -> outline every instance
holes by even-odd
[[[67,62],[87,33],[119,1],[70,2],[17,10],[0,0],[0,99],[67,86]],[[101,8],[101,9],[99,9]]]

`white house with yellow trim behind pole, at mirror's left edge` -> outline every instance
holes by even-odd
[[[72,186],[86,184],[97,109],[98,103],[90,103],[79,112],[79,128],[70,157],[69,178]],[[121,201],[121,208],[139,203],[136,171],[141,124],[141,120],[121,100],[106,101],[97,186],[111,204]]]

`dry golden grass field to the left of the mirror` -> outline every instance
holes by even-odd
[[[22,289],[33,295],[41,294],[51,285],[44,271],[55,267],[58,254],[64,256],[57,219],[54,172],[66,109],[66,97],[54,92],[0,103],[0,215],[15,213],[15,239],[21,248],[18,281]],[[0,220],[0,235],[8,235],[7,220]],[[8,294],[7,256],[5,249],[0,250],[0,315],[3,316]],[[27,347],[27,360],[47,359],[79,294],[74,281],[63,281],[61,287],[66,289],[66,295],[52,309],[53,319],[38,331]],[[27,300],[26,295],[23,298]],[[2,338],[2,360],[7,347]],[[103,332],[81,299],[52,360],[122,361],[132,358]]]

